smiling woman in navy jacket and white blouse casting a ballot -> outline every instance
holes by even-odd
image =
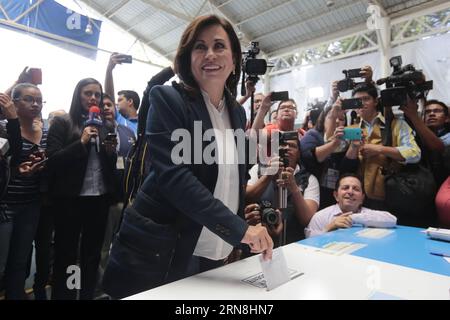
[[[245,164],[237,158],[218,161],[222,153],[245,150],[229,135],[244,133],[246,123],[232,94],[240,64],[231,24],[213,15],[198,17],[182,35],[175,57],[181,84],[151,90],[146,128],[150,172],[125,211],[103,278],[105,292],[114,298],[187,276],[193,255],[210,267],[220,266],[240,243],[271,258],[273,242],[266,228],[242,219]],[[212,139],[203,141],[208,129],[214,129]],[[178,133],[191,141],[182,159],[175,151],[182,143]],[[214,146],[211,163],[204,153],[213,154]]]

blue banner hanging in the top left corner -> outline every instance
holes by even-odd
[[[45,0],[41,3],[37,0],[0,0],[0,6],[4,10],[4,12],[0,10],[0,26],[71,43],[91,49],[89,51],[96,50],[98,47],[102,22],[73,12],[53,0]],[[28,10],[29,12],[26,13]],[[23,15],[24,13],[26,14]],[[59,37],[63,39],[60,40]],[[64,41],[67,39],[69,41]],[[54,44],[55,41],[51,43]],[[67,48],[67,46],[64,47]],[[86,53],[79,48],[71,49],[71,51],[83,55]]]

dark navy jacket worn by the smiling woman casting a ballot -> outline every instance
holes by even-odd
[[[171,140],[175,130],[187,130],[193,143],[194,121],[202,122],[200,134],[212,128],[202,95],[191,98],[181,88],[156,86],[150,103],[146,128],[150,172],[125,210],[103,283],[106,292],[116,297],[185,276],[203,226],[234,246],[240,244],[248,228],[242,218],[245,164],[239,164],[240,199],[235,215],[213,196],[217,164],[174,164],[171,159],[178,143]],[[244,130],[245,111],[229,92],[226,104],[233,129]],[[204,141],[197,153],[203,154],[210,143]],[[192,158],[195,153],[191,152]],[[140,279],[136,285],[133,277]],[[117,279],[121,279],[120,286]]]

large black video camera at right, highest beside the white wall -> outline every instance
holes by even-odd
[[[412,64],[402,67],[402,57],[396,56],[389,60],[393,72],[389,77],[379,79],[377,85],[386,84],[381,91],[381,103],[384,107],[406,105],[407,95],[413,99],[427,96],[433,89],[433,81],[425,81],[422,70],[416,70]]]

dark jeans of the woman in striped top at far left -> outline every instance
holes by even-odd
[[[12,230],[5,270],[6,298],[25,299],[25,280],[33,239],[39,221],[40,202],[8,205]]]

